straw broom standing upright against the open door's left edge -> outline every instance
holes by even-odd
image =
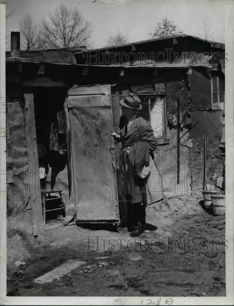
[[[66,112],[65,112],[66,113]],[[63,225],[67,225],[69,222],[71,222],[75,215],[76,215],[76,207],[75,204],[73,203],[72,196],[71,196],[71,131],[68,129],[68,189],[69,189],[69,204],[66,207],[66,216],[63,221]]]

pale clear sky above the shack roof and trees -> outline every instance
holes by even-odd
[[[6,13],[16,8],[14,15],[6,20],[6,35],[20,31],[19,21],[28,13],[36,23],[56,6],[65,3],[80,10],[92,25],[92,47],[104,47],[109,34],[117,29],[128,29],[128,42],[150,39],[157,22],[168,17],[184,34],[204,38],[202,20],[212,24],[210,40],[224,43],[225,5],[223,0],[8,0]],[[9,40],[9,39],[8,39]],[[10,43],[6,50],[10,49]]]

